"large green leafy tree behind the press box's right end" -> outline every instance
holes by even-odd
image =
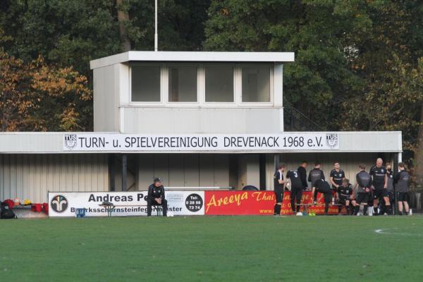
[[[284,66],[284,98],[322,128],[336,130],[341,102],[362,87],[348,50],[371,24],[360,4],[348,3],[212,1],[204,48],[294,51],[295,63]]]

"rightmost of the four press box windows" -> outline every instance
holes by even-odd
[[[270,102],[270,67],[243,66],[243,102]]]

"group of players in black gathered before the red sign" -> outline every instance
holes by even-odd
[[[360,171],[357,173],[356,182],[353,185],[345,178],[345,172],[340,168],[339,163],[333,164],[330,174],[330,184],[326,181],[321,164],[316,162],[314,168],[309,171],[307,178],[307,161],[302,161],[297,169],[290,169],[286,173],[285,164],[279,164],[274,174],[274,192],[276,204],[274,215],[281,214],[283,192],[290,192],[290,205],[293,214],[300,213],[302,191],[309,190],[308,183],[312,185],[312,202],[317,204],[318,193],[324,197],[324,214],[328,214],[329,204],[338,206],[338,213],[341,214],[343,206],[350,215],[388,215],[393,213],[392,204],[394,199],[398,202],[400,215],[409,214],[407,204],[408,183],[410,175],[405,170],[405,164],[398,164],[398,172],[393,173],[391,164],[383,166],[383,160],[377,159],[376,164],[370,168],[369,173],[366,166],[360,164]],[[396,188],[396,189],[394,189]],[[397,192],[394,197],[394,191]]]

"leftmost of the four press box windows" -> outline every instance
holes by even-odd
[[[160,66],[131,66],[131,100],[160,102]]]

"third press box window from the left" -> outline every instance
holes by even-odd
[[[233,67],[206,66],[206,102],[233,102]]]

